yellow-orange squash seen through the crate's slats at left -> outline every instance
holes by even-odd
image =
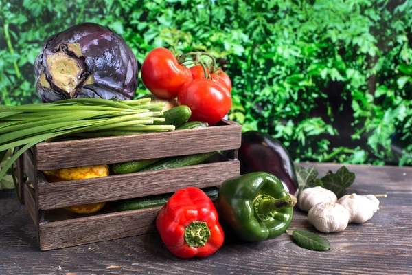
[[[96,166],[83,166],[75,168],[67,168],[60,170],[45,171],[45,176],[49,182],[69,181],[78,179],[91,179],[93,177],[106,177],[108,176],[108,166],[96,165]],[[91,214],[98,212],[103,208],[104,202],[90,203],[81,206],[70,206],[66,209],[78,214]]]

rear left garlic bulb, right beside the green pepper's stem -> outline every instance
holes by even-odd
[[[308,212],[310,208],[323,202],[336,202],[338,198],[334,192],[321,186],[306,188],[299,195],[298,205],[300,210]]]

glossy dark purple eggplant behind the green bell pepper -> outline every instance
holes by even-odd
[[[279,140],[258,131],[243,133],[238,159],[241,175],[252,172],[271,173],[282,181],[289,194],[297,196],[299,186],[295,166]]]

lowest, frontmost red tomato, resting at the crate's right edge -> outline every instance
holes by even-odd
[[[227,88],[210,79],[195,79],[186,83],[178,96],[179,104],[192,110],[190,120],[209,125],[219,122],[231,108],[231,96]]]

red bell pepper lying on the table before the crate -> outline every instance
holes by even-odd
[[[168,250],[180,258],[209,256],[223,244],[216,208],[196,187],[175,192],[157,215],[156,226]]]

